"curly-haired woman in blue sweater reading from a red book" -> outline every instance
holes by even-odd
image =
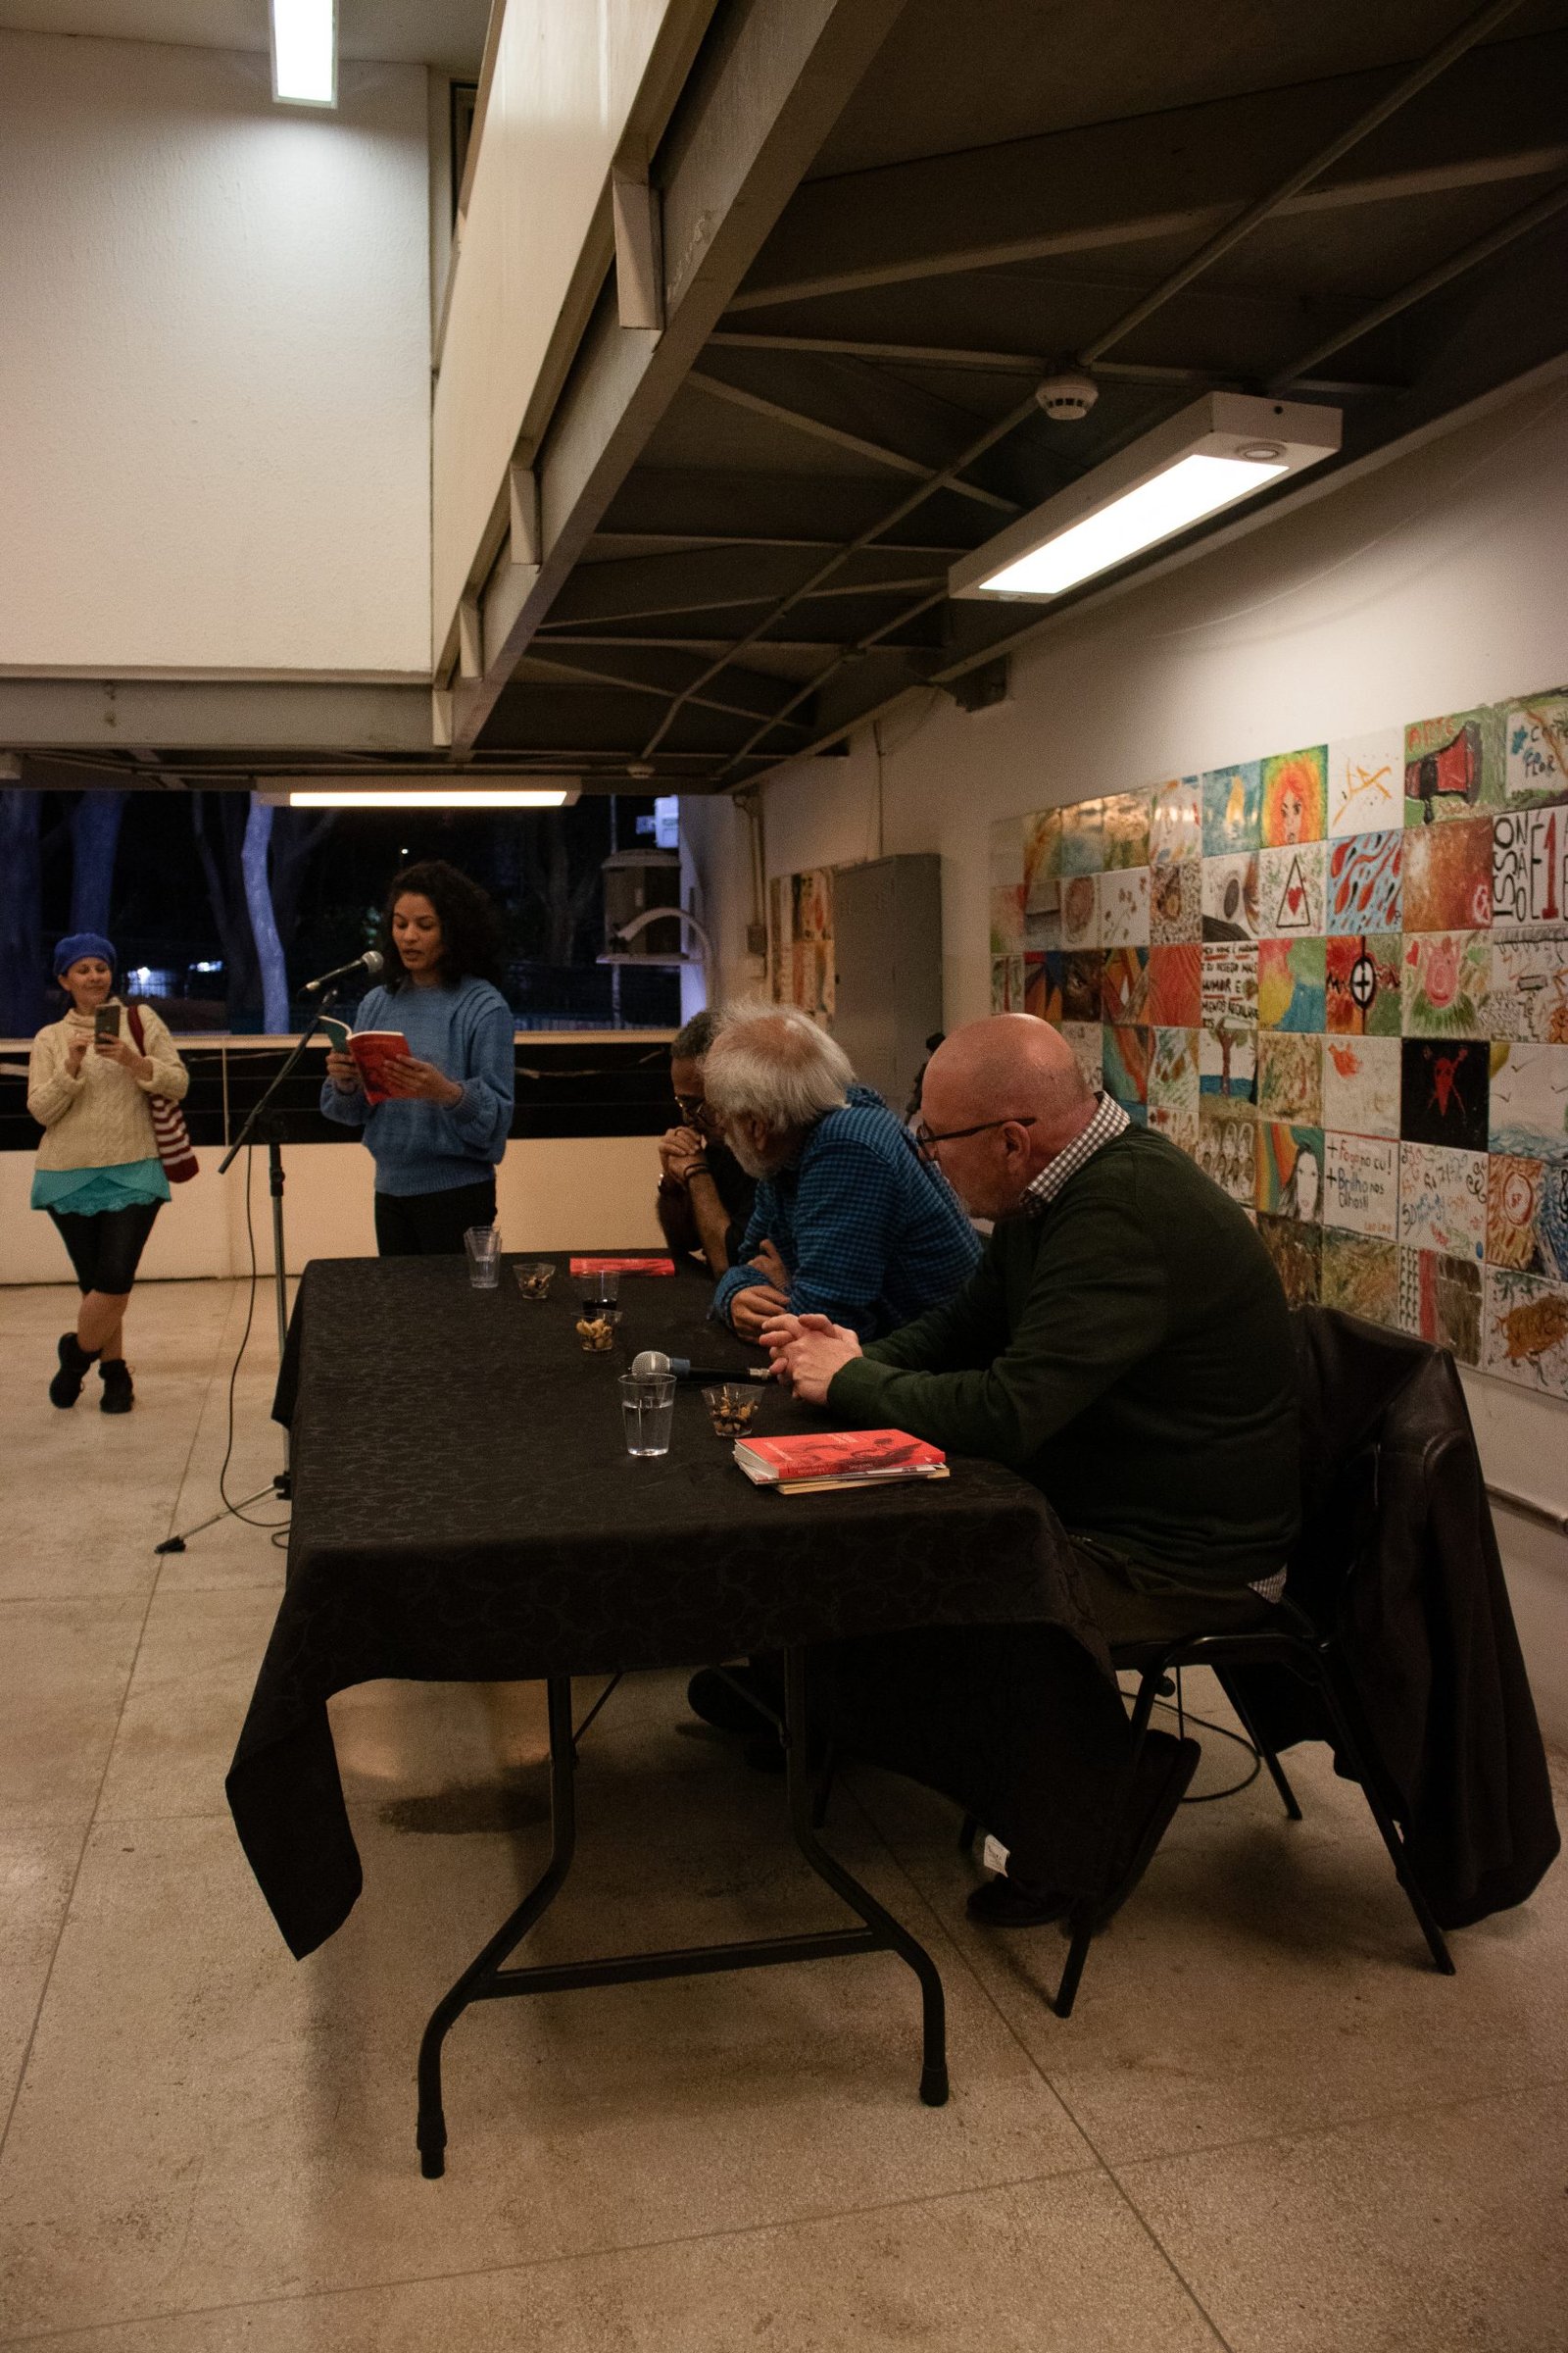
[[[355,1035],[390,1031],[407,1052],[378,1056],[376,1104],[355,1056],[327,1054],[322,1111],[364,1129],[381,1257],[461,1252],[468,1226],[496,1221],[496,1165],[512,1125],[501,929],[477,882],[421,859],[393,880],[378,946],[388,979],[360,1005]]]

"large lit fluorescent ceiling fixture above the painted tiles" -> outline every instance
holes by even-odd
[[[959,558],[947,593],[1048,602],[1338,447],[1338,409],[1206,393]]]

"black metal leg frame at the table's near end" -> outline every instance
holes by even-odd
[[[943,1981],[922,1944],[820,1845],[813,1826],[816,1781],[806,1741],[806,1652],[785,1652],[785,1774],[790,1824],[816,1875],[849,1904],[860,1927],[811,1929],[802,1937],[750,1937],[745,1944],[698,1944],[670,1953],[614,1953],[604,1960],[555,1960],[508,1969],[508,1955],[557,1897],[576,1842],[571,1680],[548,1680],[550,1713],[550,1861],[517,1911],[463,1969],[435,2005],[418,2045],[418,2169],[428,2181],[447,2169],[447,2118],[442,2113],[442,2042],[470,2002],[496,2002],[520,1993],[576,1993],[585,1986],[635,1986],[658,1977],[705,1977],[719,1969],[766,1969],[788,1960],[842,1960],[851,1953],[898,1953],[914,1969],[922,1991],[924,2054],[919,2097],[929,2108],[947,2099],[947,2031]]]

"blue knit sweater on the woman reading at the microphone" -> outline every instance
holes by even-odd
[[[355,1014],[355,1028],[393,1028],[409,1040],[418,1061],[433,1061],[444,1078],[463,1080],[461,1101],[367,1104],[360,1087],[339,1094],[322,1087],[322,1111],[341,1127],[362,1127],[376,1162],[378,1193],[451,1193],[480,1184],[505,1151],[512,1125],[515,1021],[512,1007],[489,981],[456,988],[395,993],[371,988]]]

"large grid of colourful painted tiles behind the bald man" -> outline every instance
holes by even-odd
[[[1568,689],[1004,819],[990,929],[1293,1301],[1568,1398]]]

